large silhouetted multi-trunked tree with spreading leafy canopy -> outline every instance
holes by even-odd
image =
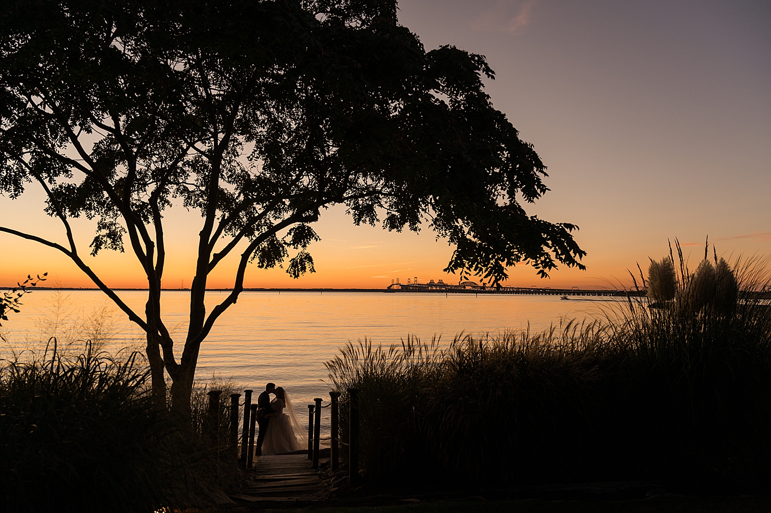
[[[62,251],[146,332],[159,403],[165,369],[189,409],[200,343],[249,262],[314,271],[311,224],[328,205],[389,230],[428,221],[462,278],[583,268],[576,227],[520,204],[547,191],[546,168],[484,93],[485,58],[426,52],[394,1],[12,0],[0,20],[0,191],[42,187],[68,243],[0,231]],[[171,204],[203,218],[180,359],[160,313]],[[93,255],[128,241],[143,315],[82,261],[79,216],[96,220]],[[207,312],[207,275],[232,251],[233,292]]]

